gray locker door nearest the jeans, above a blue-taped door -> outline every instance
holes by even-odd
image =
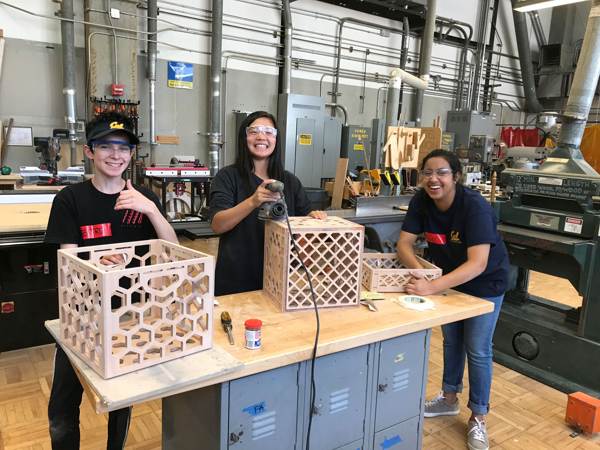
[[[374,431],[419,415],[425,395],[429,335],[428,330],[422,330],[380,343]]]

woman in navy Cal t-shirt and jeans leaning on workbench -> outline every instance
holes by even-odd
[[[460,412],[457,392],[463,390],[464,359],[469,362],[470,450],[487,450],[484,415],[490,410],[491,338],[508,284],[508,254],[497,231],[497,217],[481,194],[458,183],[461,164],[445,150],[428,154],[421,166],[423,189],[410,201],[398,239],[398,257],[421,269],[413,244],[425,233],[433,262],[443,276],[427,281],[416,272],[407,293],[431,295],[455,289],[494,303],[493,313],[442,325],[443,394],[425,404],[425,417]]]

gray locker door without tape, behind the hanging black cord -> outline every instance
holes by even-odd
[[[362,439],[367,398],[368,346],[321,356],[314,365],[316,385],[310,446],[314,449],[337,449]],[[310,410],[310,361],[306,369],[304,439]]]

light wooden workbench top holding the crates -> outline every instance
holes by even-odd
[[[391,298],[398,298],[399,295],[403,295],[402,293],[386,293],[383,295],[386,297],[385,300],[374,301],[379,309],[378,312],[371,311],[363,305],[359,308],[320,311],[317,356],[328,355],[444,323],[490,313],[494,309],[491,302],[454,290],[447,290],[440,295],[430,296],[436,309],[422,312],[406,310],[397,303],[390,301]],[[243,362],[244,368],[190,385],[173,386],[173,389],[166,388],[161,395],[136,398],[128,404],[121,403],[119,407],[215,385],[305,361],[312,357],[316,332],[314,311],[282,314],[263,294],[262,290],[221,296],[217,297],[217,301],[220,305],[215,305],[214,310],[214,343]],[[232,317],[235,346],[229,345],[229,338],[221,326],[220,316],[223,311],[228,311]],[[260,349],[248,350],[244,346],[244,322],[247,319],[260,319],[263,322]],[[185,358],[187,357],[184,356],[181,360]],[[150,368],[140,370],[139,374],[143,374],[143,371],[148,369]],[[78,376],[80,376],[79,373]],[[80,380],[82,380],[86,394],[88,394],[98,414],[116,409],[100,401],[98,395],[93,391],[93,386],[90,388],[82,376],[80,376]],[[164,383],[168,385],[171,381],[165,376]]]

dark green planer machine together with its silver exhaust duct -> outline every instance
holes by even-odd
[[[600,0],[593,0],[556,148],[539,170],[506,169],[492,202],[511,262],[494,361],[563,392],[600,398],[600,175],[579,150],[600,76]],[[527,292],[530,271],[566,278],[579,308]]]

